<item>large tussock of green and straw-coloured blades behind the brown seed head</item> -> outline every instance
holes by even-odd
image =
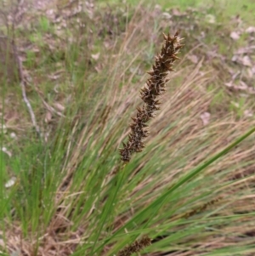
[[[129,67],[148,68],[143,66],[141,44],[148,47],[154,22],[150,14],[138,9],[125,39],[116,39],[121,50],[101,52],[103,71],[93,73],[91,66],[90,76],[71,80],[73,104],[52,133],[53,143],[49,139],[47,145],[37,145],[29,138],[19,154],[6,161],[0,154],[0,166],[6,166],[1,182],[9,173],[20,178],[8,196],[5,189],[0,196],[1,253],[111,256],[147,234],[152,244],[139,252],[144,255],[254,254],[254,238],[248,237],[254,224],[254,139],[228,155],[237,143],[224,151],[254,122],[236,122],[231,113],[224,113],[222,118],[212,115],[203,126],[200,115],[212,100],[205,88],[218,76],[204,60],[198,65],[177,63],[181,68],[171,73],[170,93],[162,95],[166,100],[150,122],[150,141],[122,172],[112,175],[119,166],[116,149],[126,136],[123,116],[132,114],[127,106],[136,104],[136,88],[145,81]],[[156,26],[155,36],[168,26]],[[187,38],[186,48],[192,48]],[[75,43],[73,48],[82,55]],[[74,66],[74,58],[68,61]],[[82,62],[77,66],[86,70]],[[66,77],[76,74],[81,76],[76,68],[65,69]],[[77,82],[84,80],[85,89]],[[224,152],[208,162],[215,151]],[[216,162],[219,156],[224,157]],[[203,162],[207,164],[201,166]],[[219,195],[224,200],[213,204]],[[213,205],[208,208],[205,202]]]

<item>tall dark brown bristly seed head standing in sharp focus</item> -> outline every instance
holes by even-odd
[[[132,117],[130,125],[131,132],[128,135],[127,143],[123,143],[124,148],[120,149],[123,162],[129,162],[133,152],[141,152],[144,149],[143,140],[148,137],[149,130],[146,122],[154,117],[154,112],[158,111],[160,102],[158,96],[165,93],[167,75],[173,71],[173,63],[179,60],[177,54],[184,44],[182,38],[178,37],[178,32],[173,37],[163,34],[165,43],[161,48],[161,54],[156,56],[155,65],[148,74],[151,76],[140,90],[140,97],[144,100],[142,108],[137,109],[136,117]]]

